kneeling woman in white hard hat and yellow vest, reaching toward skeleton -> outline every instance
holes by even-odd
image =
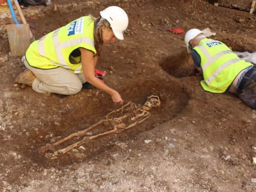
[[[114,103],[122,104],[120,94],[96,78],[94,71],[103,43],[123,40],[128,16],[117,6],[100,14],[100,18],[78,18],[34,41],[23,57],[27,70],[18,75],[16,82],[32,86],[39,93],[62,95],[77,94],[88,82],[110,94]]]

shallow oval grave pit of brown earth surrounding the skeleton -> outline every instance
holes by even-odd
[[[87,92],[88,90],[81,94],[86,94]],[[92,95],[97,94],[98,92],[99,90],[97,89],[92,89],[90,91]],[[53,143],[69,136],[69,134],[86,129],[99,120],[105,119],[105,115],[120,107],[113,107],[112,101],[109,97],[106,97],[105,94],[98,94],[97,97],[99,100],[88,97],[83,98],[83,101],[80,103],[81,105],[73,109],[73,113],[76,115],[62,120],[65,121],[65,127],[63,127],[63,125],[55,125],[54,122],[52,122],[53,127],[46,127],[30,134],[30,136],[25,140],[27,145],[29,143],[30,145],[33,143],[34,147],[33,149],[28,150],[28,153],[25,155],[33,162],[44,166],[63,166],[74,162],[87,161],[91,158],[95,158],[97,154],[107,151],[109,148],[114,146],[116,142],[125,142],[137,139],[139,138],[139,133],[153,129],[154,127],[157,127],[157,125],[174,118],[184,109],[184,107],[187,106],[187,102],[189,100],[189,94],[187,94],[187,92],[184,91],[177,82],[169,82],[167,84],[165,80],[133,82],[128,88],[121,90],[120,94],[124,96],[123,98],[125,103],[131,101],[140,105],[144,104],[148,96],[157,95],[160,97],[161,106],[159,108],[153,108],[150,111],[150,117],[146,119],[146,121],[143,121],[131,129],[120,134],[112,134],[97,138],[95,141],[90,142],[87,145],[82,145],[85,147],[85,151],[81,151],[76,148],[75,150],[68,152],[66,155],[59,156],[56,160],[48,160],[43,155],[39,155],[38,151],[40,147],[46,145],[46,143]],[[81,110],[82,108],[85,110]],[[66,117],[67,115],[63,114],[63,116]],[[105,130],[102,131],[108,130],[104,127],[103,129]],[[91,131],[91,134],[99,131],[100,130],[96,128]],[[67,147],[81,139],[82,138],[73,138],[66,143],[61,144],[58,149]]]

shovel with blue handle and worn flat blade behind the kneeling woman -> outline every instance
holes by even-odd
[[[19,24],[11,1],[7,0],[15,24],[6,25],[9,46],[12,56],[22,56],[30,45],[30,29],[28,24]]]

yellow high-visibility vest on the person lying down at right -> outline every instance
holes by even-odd
[[[251,63],[240,59],[231,49],[218,40],[202,39],[193,48],[201,57],[204,80],[201,86],[205,91],[224,93],[236,76]]]

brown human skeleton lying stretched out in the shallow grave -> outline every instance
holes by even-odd
[[[46,144],[46,146],[41,147],[40,153],[45,153],[45,157],[47,159],[56,159],[59,154],[65,154],[66,152],[69,152],[71,149],[75,147],[79,147],[82,144],[89,143],[91,140],[95,140],[96,138],[109,135],[109,134],[114,134],[114,133],[121,133],[124,130],[130,129],[134,126],[136,126],[139,123],[142,123],[145,121],[149,116],[150,116],[150,110],[153,107],[160,107],[160,99],[158,96],[151,95],[147,98],[146,102],[141,106],[137,105],[132,102],[128,102],[125,104],[123,107],[116,109],[109,114],[105,116],[104,120],[98,121],[96,124],[91,125],[89,128],[84,129],[82,131],[78,131],[76,133],[70,134],[68,137],[63,138],[55,143],[52,144]],[[122,116],[119,117],[110,117],[111,115],[115,113],[124,113]],[[129,121],[133,121],[130,125],[126,125],[126,123],[129,123]],[[100,134],[92,135],[92,136],[85,136],[91,129],[96,128],[97,126],[104,125],[104,126],[109,126],[108,131],[105,131]],[[55,147],[68,141],[71,138],[75,137],[83,137],[82,140],[73,143],[69,145],[68,147],[59,149],[55,151]]]

